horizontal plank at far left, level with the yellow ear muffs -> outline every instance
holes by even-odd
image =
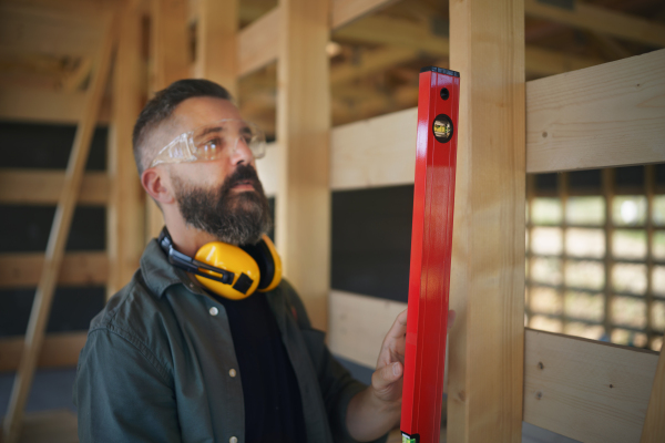
[[[33,288],[44,266],[41,253],[0,254],[0,288]],[[109,258],[101,253],[68,253],[62,259],[58,285],[105,285]]]

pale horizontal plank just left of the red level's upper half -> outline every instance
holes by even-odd
[[[330,188],[413,183],[418,109],[338,126],[330,133]]]

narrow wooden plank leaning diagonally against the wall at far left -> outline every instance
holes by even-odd
[[[99,65],[91,80],[85,106],[83,109],[83,119],[74,137],[72,153],[65,173],[65,183],[62,188],[62,195],[55,210],[53,226],[49,236],[44,267],[32,303],[32,312],[30,313],[28,332],[25,334],[25,347],[23,354],[21,356],[19,372],[14,379],[8,414],[4,419],[3,432],[6,443],[17,442],[21,431],[23,410],[25,408],[28,394],[30,393],[30,385],[32,384],[37,359],[43,343],[44,330],[51,310],[53,292],[55,290],[64,255],[64,246],[66,244],[74,207],[83,182],[83,172],[96,124],[98,112],[102,102],[103,92],[106,87],[106,76],[111,65],[115,40],[115,25],[111,18],[108,19],[108,24],[104,28],[105,37],[100,51]]]

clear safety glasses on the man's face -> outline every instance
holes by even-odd
[[[254,123],[226,119],[206,124],[175,137],[164,146],[150,167],[164,163],[208,162],[233,156],[244,143],[260,158],[266,153],[266,136]]]

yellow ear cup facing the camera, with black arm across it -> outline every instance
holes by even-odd
[[[249,297],[256,290],[258,280],[260,280],[260,274],[258,271],[258,265],[256,265],[256,261],[254,261],[249,254],[245,253],[237,246],[228,245],[222,241],[211,241],[206,245],[203,245],[201,249],[198,249],[195,259],[214,266],[215,268],[222,268],[235,274],[233,285],[225,285],[209,278],[196,276],[196,279],[203,286],[213,292],[232,300],[242,300],[246,297]],[[204,274],[222,277],[219,274],[212,270],[206,270],[203,268],[198,268],[198,270]],[[254,280],[246,293],[233,288],[233,286],[238,281],[241,274],[245,274],[247,277]]]

